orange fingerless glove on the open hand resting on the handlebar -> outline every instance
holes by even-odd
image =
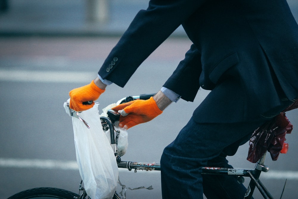
[[[162,114],[153,97],[148,100],[134,100],[125,104],[119,104],[113,110],[121,114],[119,127],[124,127],[125,129],[148,122]]]

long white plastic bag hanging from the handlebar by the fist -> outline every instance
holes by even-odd
[[[84,187],[92,199],[111,199],[117,187],[118,166],[113,149],[103,132],[98,104],[79,113],[89,125],[72,117],[77,164]]]

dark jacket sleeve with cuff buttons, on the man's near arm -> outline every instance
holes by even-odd
[[[151,0],[112,49],[98,74],[124,87],[139,65],[206,0]]]

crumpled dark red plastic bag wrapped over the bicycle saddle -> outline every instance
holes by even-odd
[[[277,160],[286,140],[285,135],[291,133],[293,129],[285,112],[296,108],[298,108],[298,100],[254,131],[249,140],[248,161],[256,163],[266,151],[270,153],[273,161]]]

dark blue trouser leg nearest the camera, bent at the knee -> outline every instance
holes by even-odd
[[[200,168],[208,166],[208,162],[211,163],[212,161],[215,162],[215,166],[227,165],[224,161],[219,161],[220,155],[223,152],[226,155],[234,155],[229,154],[231,153],[227,150],[229,146],[237,143],[234,146],[237,150],[238,146],[243,144],[239,141],[247,141],[249,135],[263,122],[260,119],[260,121],[250,123],[200,124],[191,118],[162,154],[163,198],[203,198],[203,177]],[[222,182],[218,182],[216,178],[213,180],[217,184],[233,183],[233,185],[237,185],[235,189],[243,190],[243,185],[236,184],[234,178],[225,178]],[[207,190],[207,192],[209,191]],[[244,193],[245,191],[243,196]],[[229,194],[229,191],[223,193],[221,198],[233,198]],[[212,196],[210,197],[212,198]]]

